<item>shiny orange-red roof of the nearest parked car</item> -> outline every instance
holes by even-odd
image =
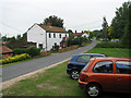
[[[92,60],[126,60],[126,61],[131,61],[131,58],[121,58],[121,57],[96,57],[92,58]]]

